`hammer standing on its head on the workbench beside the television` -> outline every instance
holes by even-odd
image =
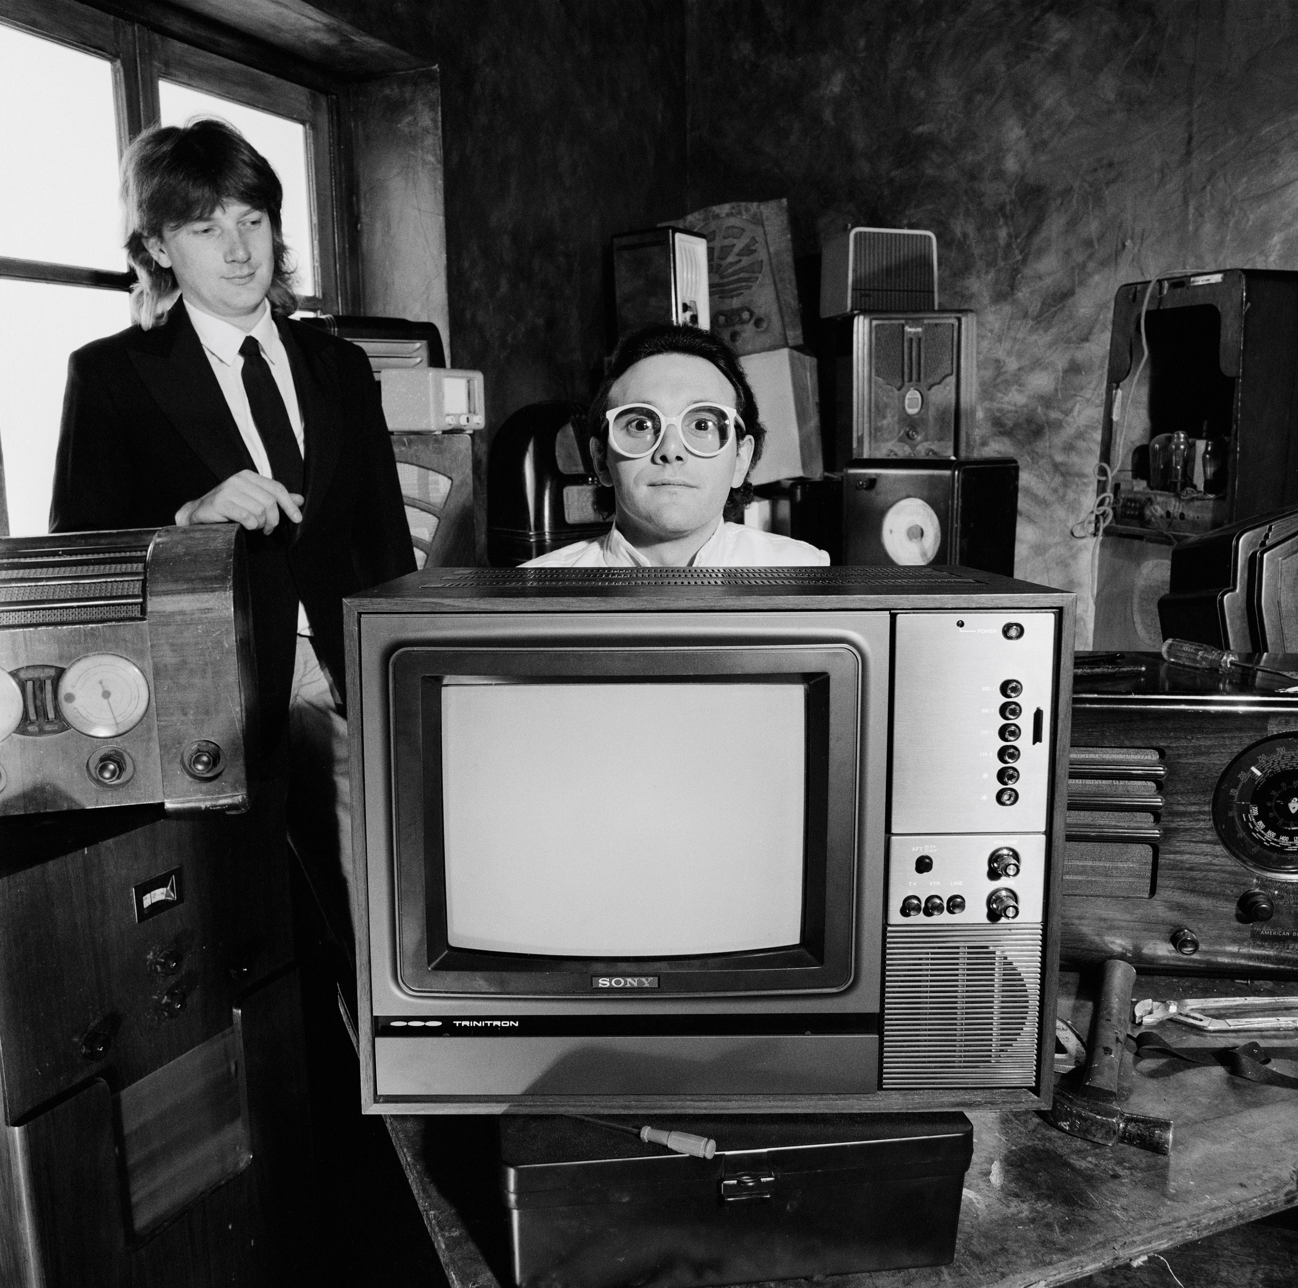
[[[1118,1108],[1118,1079],[1123,1066],[1123,1044],[1134,983],[1136,969],[1128,962],[1118,957],[1105,962],[1099,1001],[1090,1021],[1085,1069],[1071,1085],[1060,1082],[1055,1087],[1050,1121],[1060,1131],[1097,1145],[1121,1141],[1150,1149],[1155,1154],[1169,1154],[1169,1119],[1128,1114]]]

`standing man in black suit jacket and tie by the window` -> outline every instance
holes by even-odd
[[[279,179],[231,126],[143,134],[123,201],[136,325],[71,356],[49,528],[248,530],[263,749],[287,747],[289,832],[347,922],[341,601],[415,566],[379,387],[361,349],[287,317]]]

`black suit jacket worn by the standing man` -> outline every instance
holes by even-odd
[[[343,597],[414,570],[379,387],[354,344],[275,319],[302,413],[302,522],[248,534],[262,735],[283,731],[297,604],[341,691]],[[73,353],[55,462],[51,532],[164,527],[186,501],[256,469],[190,314]],[[201,682],[196,676],[196,682]]]

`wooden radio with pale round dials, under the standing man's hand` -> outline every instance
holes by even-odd
[[[0,815],[247,806],[239,532],[0,540]]]

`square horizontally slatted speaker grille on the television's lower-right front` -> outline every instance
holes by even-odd
[[[883,1088],[1036,1085],[1040,1008],[1040,926],[889,926]]]

